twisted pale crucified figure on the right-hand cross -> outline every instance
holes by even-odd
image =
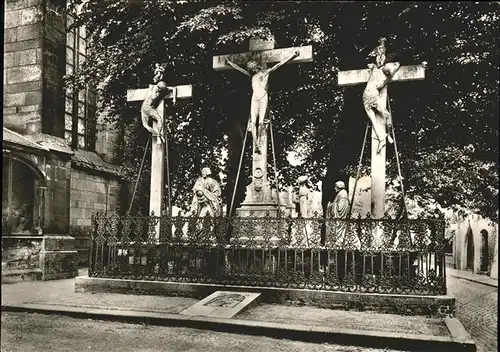
[[[385,63],[385,38],[380,39],[379,45],[370,53],[370,56],[375,57],[376,64],[368,64],[371,73],[363,92],[363,105],[378,140],[377,153],[380,153],[386,140],[393,143],[389,133],[392,129],[392,116],[387,109],[387,82],[399,70],[400,64],[399,62]]]

